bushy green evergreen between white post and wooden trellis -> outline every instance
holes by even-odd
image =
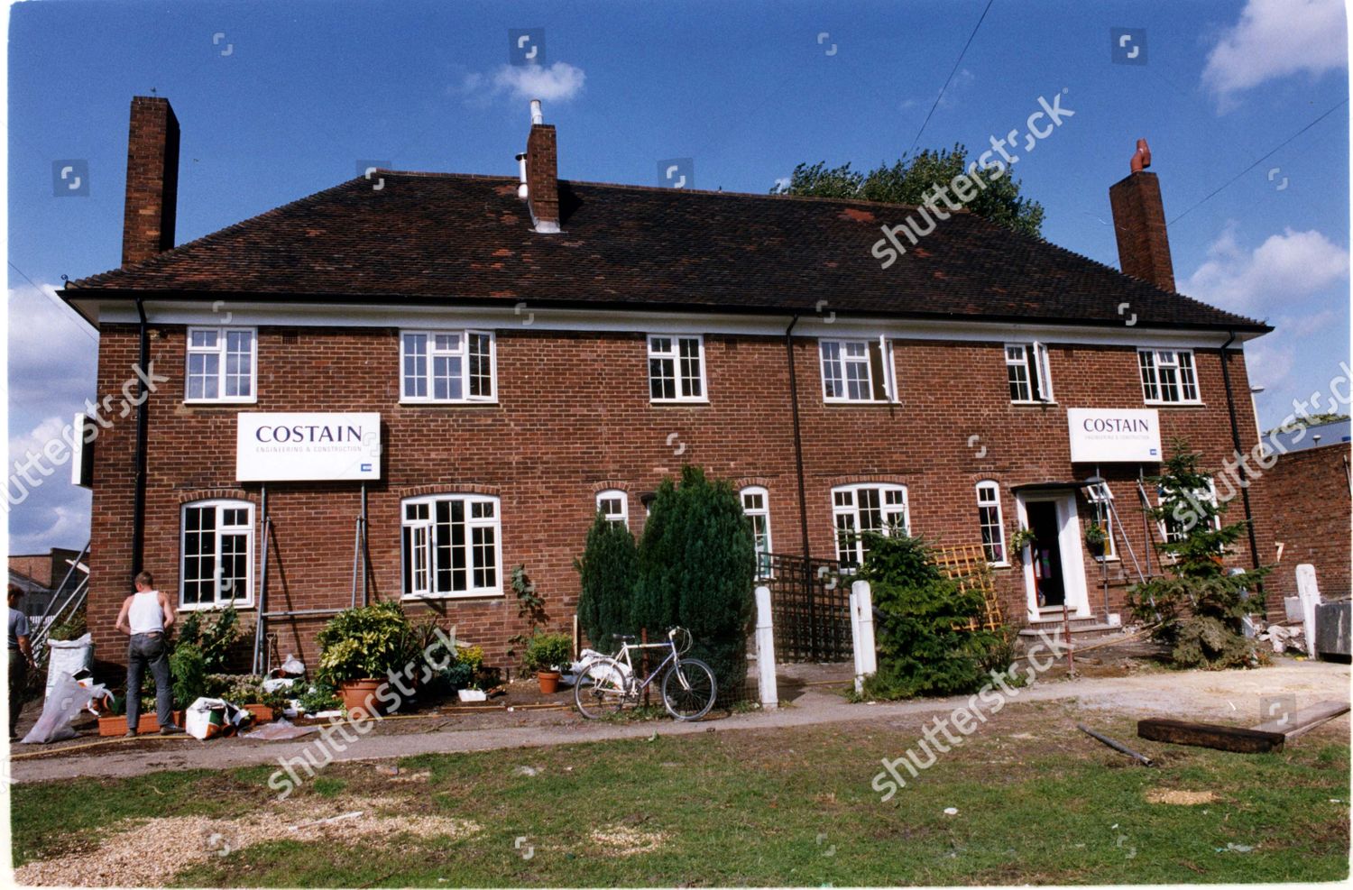
[[[869,555],[856,579],[867,580],[875,614],[878,674],[866,680],[869,698],[913,698],[974,693],[988,671],[1009,667],[1005,634],[967,630],[985,602],[936,568],[921,538],[866,533]]]

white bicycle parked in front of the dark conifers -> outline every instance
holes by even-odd
[[[685,645],[678,647],[678,634],[683,634]],[[578,711],[587,720],[603,714],[618,713],[626,703],[639,703],[639,694],[648,684],[663,678],[663,706],[676,720],[700,720],[714,706],[717,686],[714,672],[700,659],[683,659],[690,651],[690,632],[671,628],[667,642],[633,642],[632,634],[614,633],[612,638],[621,642],[620,652],[612,656],[593,659],[578,672],[574,682],[574,702]],[[629,653],[633,649],[667,649],[662,664],[640,680]]]

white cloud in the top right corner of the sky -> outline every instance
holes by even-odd
[[[1268,80],[1346,68],[1345,27],[1342,0],[1249,0],[1208,53],[1203,84],[1226,111],[1235,93]]]

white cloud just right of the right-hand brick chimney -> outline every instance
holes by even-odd
[[[1334,284],[1348,275],[1349,254],[1316,230],[1292,231],[1245,250],[1229,225],[1208,248],[1207,261],[1180,288],[1234,312],[1265,317],[1275,308]]]

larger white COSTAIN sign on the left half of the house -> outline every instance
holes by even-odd
[[[379,414],[244,413],[238,418],[238,482],[380,479]]]

